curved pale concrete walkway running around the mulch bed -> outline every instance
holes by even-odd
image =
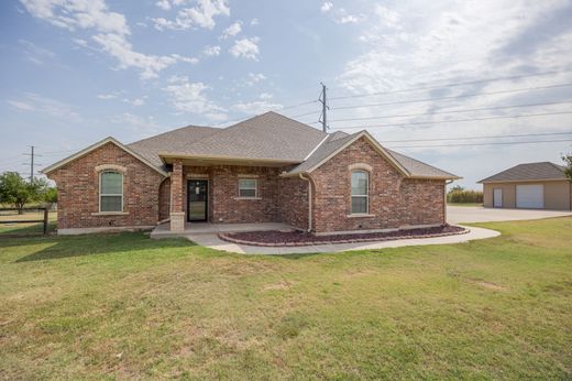
[[[235,252],[241,254],[300,254],[315,252],[340,252],[351,250],[372,250],[385,248],[399,248],[406,246],[422,246],[422,244],[444,244],[444,243],[461,243],[475,239],[484,239],[497,237],[501,233],[495,230],[483,228],[470,228],[471,231],[465,235],[436,237],[436,238],[414,238],[400,239],[395,241],[382,242],[358,242],[358,243],[338,243],[338,244],[316,244],[306,247],[283,247],[283,248],[264,248],[246,244],[237,244],[223,241],[217,237],[216,233],[201,235],[185,235],[185,238],[211,249]]]

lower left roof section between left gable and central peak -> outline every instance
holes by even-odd
[[[222,130],[212,127],[187,126],[155,137],[139,140],[127,144],[127,146],[146,159],[151,164],[162,167],[163,162],[158,156],[160,152],[168,151],[168,149],[175,144],[193,144],[220,131]]]

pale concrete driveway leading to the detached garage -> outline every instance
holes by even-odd
[[[522,219],[540,219],[549,217],[572,216],[572,211],[534,210],[534,209],[494,209],[471,206],[448,206],[447,221],[462,222],[492,222],[515,221]]]

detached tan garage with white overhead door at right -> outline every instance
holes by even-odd
[[[484,178],[484,206],[572,210],[572,183],[550,162],[519,164]]]

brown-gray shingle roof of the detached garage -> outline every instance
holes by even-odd
[[[564,167],[550,162],[518,164],[499,172],[479,183],[537,181],[537,179],[566,179]]]

